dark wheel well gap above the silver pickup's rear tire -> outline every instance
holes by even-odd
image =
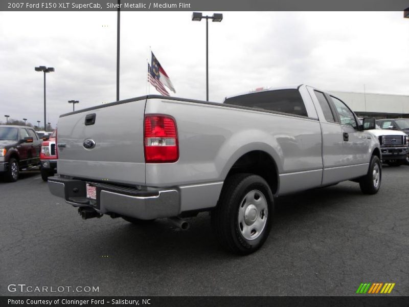
[[[277,165],[274,159],[265,151],[254,150],[245,153],[233,164],[227,177],[235,173],[257,174],[268,183],[272,194],[277,193]]]

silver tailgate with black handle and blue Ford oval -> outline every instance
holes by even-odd
[[[145,184],[146,97],[61,115],[58,173],[86,180]]]

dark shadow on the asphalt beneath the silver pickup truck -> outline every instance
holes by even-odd
[[[300,221],[308,218],[309,223],[313,223],[314,215],[321,215],[323,211],[328,213],[335,208],[348,210],[348,206],[355,206],[364,198],[359,186],[332,186],[282,197],[276,200],[276,214],[271,232],[280,236],[283,229],[288,232],[288,227],[295,226],[294,224]],[[213,257],[236,257],[224,252],[218,245],[208,213],[200,213],[197,217],[187,220],[191,223],[187,231],[175,228],[166,219],[156,220],[148,225],[121,221],[115,231],[105,233],[104,241],[107,246],[112,245],[112,249],[116,254],[120,254],[121,258],[144,258],[145,265],[149,264],[150,257],[155,259],[156,254],[168,260],[187,255],[200,259],[208,257],[209,254]]]

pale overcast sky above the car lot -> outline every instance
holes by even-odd
[[[209,14],[211,14],[209,12]],[[0,12],[0,121],[43,124],[116,100],[116,12]],[[146,95],[149,48],[177,97],[206,99],[206,25],[191,12],[121,13],[120,98]],[[402,12],[223,12],[209,23],[210,100],[259,86],[409,95],[409,19]],[[149,57],[150,60],[150,57]],[[158,94],[150,87],[151,94]]]

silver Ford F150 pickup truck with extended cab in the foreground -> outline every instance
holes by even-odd
[[[277,196],[345,180],[381,184],[375,119],[300,85],[214,103],[143,96],[61,115],[52,194],[83,218],[146,223],[211,212],[222,246],[249,254],[265,241]]]

